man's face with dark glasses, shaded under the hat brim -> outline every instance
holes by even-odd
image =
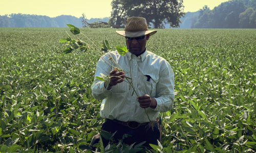
[[[150,38],[150,34],[145,35],[145,38],[142,40],[136,40],[133,38],[133,40],[127,40],[126,39],[126,46],[129,52],[132,54],[139,56],[141,55],[145,48],[146,48],[146,41]]]

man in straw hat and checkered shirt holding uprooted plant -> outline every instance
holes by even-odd
[[[131,17],[127,19],[124,31],[116,31],[126,38],[126,46],[129,52],[121,56],[118,52],[110,52],[113,59],[125,72],[113,70],[104,60],[103,56],[96,67],[95,80],[92,85],[92,95],[96,99],[103,99],[100,116],[105,118],[101,130],[115,133],[114,140],[117,143],[124,134],[131,135],[123,140],[125,144],[136,144],[146,141],[143,146],[157,145],[160,137],[158,125],[148,129],[148,117],[156,121],[159,112],[166,112],[173,107],[174,102],[174,72],[169,63],[146,50],[146,41],[157,31],[148,31],[146,19]],[[100,73],[112,77],[109,86],[96,79]],[[124,77],[133,79],[137,95],[133,89],[129,90],[129,84],[123,82]],[[152,128],[152,127],[151,127]],[[102,138],[104,146],[109,140]]]

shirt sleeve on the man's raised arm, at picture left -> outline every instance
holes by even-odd
[[[107,90],[104,87],[104,82],[96,78],[96,77],[101,77],[100,73],[103,73],[104,75],[109,75],[110,71],[112,70],[111,65],[106,63],[103,59],[108,61],[109,58],[107,56],[103,56],[99,59],[96,66],[93,85],[91,86],[92,95],[94,98],[98,100],[102,100],[106,98],[111,93],[111,90]]]

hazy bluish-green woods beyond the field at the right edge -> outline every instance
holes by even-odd
[[[210,10],[204,6],[194,17],[191,28],[256,28],[256,0],[231,0]]]

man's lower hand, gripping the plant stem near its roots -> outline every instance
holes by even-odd
[[[143,96],[137,97],[141,108],[151,107],[155,109],[157,107],[157,101],[155,98],[151,98],[149,95],[145,94]]]

